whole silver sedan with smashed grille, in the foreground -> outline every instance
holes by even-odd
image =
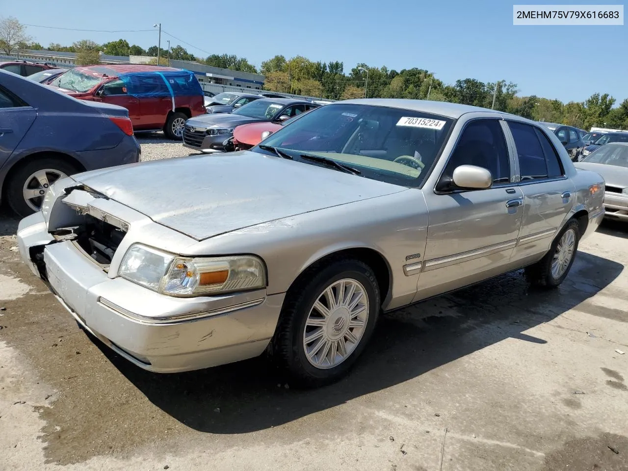
[[[347,373],[381,312],[524,267],[561,284],[603,188],[536,122],[350,100],[251,151],[60,180],[18,242],[77,322],[141,368],[268,351],[319,386]]]

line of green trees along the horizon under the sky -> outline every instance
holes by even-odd
[[[17,19],[0,19],[0,50],[11,55],[20,49],[45,48],[26,35],[24,26]],[[46,49],[77,53],[78,65],[98,63],[100,52],[114,56],[154,57],[153,62],[156,63],[159,51],[162,64],[166,64],[168,57],[168,50],[156,45],[144,50],[136,44],[129,45],[122,38],[102,45],[91,40],[76,41],[70,46],[51,43]],[[475,78],[464,78],[453,84],[445,84],[433,72],[422,68],[413,67],[398,72],[385,66],[372,67],[365,63],[359,63],[345,73],[342,62],[314,62],[302,56],[286,59],[283,55],[276,55],[262,62],[257,70],[244,57],[212,54],[200,58],[181,45],[170,48],[170,58],[240,72],[261,73],[265,78],[264,89],[275,92],[333,100],[381,97],[447,101],[494,108],[535,121],[558,122],[582,129],[592,126],[628,129],[628,99],[613,107],[616,100],[609,94],[595,93],[584,102],[563,103],[536,95],[517,95],[517,84],[506,80],[481,82]]]

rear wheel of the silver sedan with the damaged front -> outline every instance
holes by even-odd
[[[556,288],[563,283],[578,251],[580,225],[571,219],[554,239],[549,251],[537,263],[526,267],[526,279],[535,286]]]

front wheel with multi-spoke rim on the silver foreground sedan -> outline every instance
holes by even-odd
[[[371,338],[380,293],[371,267],[342,259],[308,270],[286,297],[271,352],[301,387],[349,372]]]

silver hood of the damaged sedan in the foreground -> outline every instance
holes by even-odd
[[[105,168],[73,178],[198,241],[406,190],[249,151]]]

